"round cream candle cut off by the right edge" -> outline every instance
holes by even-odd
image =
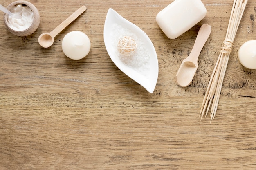
[[[238,51],[240,63],[249,69],[256,69],[256,40],[245,42]]]

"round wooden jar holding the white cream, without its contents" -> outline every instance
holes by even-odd
[[[34,13],[34,20],[31,24],[31,26],[28,29],[25,29],[25,30],[20,30],[20,31],[13,30],[8,25],[8,15],[6,13],[4,13],[4,24],[5,24],[6,28],[8,29],[8,31],[10,31],[14,35],[21,36],[21,37],[31,35],[32,33],[34,33],[36,31],[36,29],[39,26],[39,23],[40,23],[39,12],[33,4],[31,4],[30,2],[27,2],[25,0],[18,0],[18,1],[12,2],[6,8],[8,10],[10,10],[13,6],[18,5],[18,4],[22,4],[24,6],[27,5],[32,10],[32,12]]]

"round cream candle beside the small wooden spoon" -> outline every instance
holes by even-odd
[[[88,55],[90,49],[90,39],[81,31],[72,31],[67,33],[62,40],[63,53],[73,60],[84,58]]]

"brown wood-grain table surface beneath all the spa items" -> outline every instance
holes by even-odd
[[[173,0],[29,2],[41,17],[32,35],[12,35],[0,20],[0,170],[256,169],[256,70],[238,61],[240,46],[256,39],[256,0],[245,9],[211,124],[209,115],[200,121],[199,112],[232,0],[202,0],[206,17],[175,40],[155,21]],[[85,13],[56,36],[53,46],[42,48],[39,35],[81,5]],[[159,62],[153,93],[110,59],[103,40],[109,8],[153,42]],[[175,75],[204,23],[212,26],[211,35],[192,84],[182,88]],[[67,58],[61,49],[70,31],[91,40],[82,60]]]

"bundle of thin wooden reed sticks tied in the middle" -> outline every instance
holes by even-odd
[[[211,79],[209,81],[206,93],[204,95],[204,100],[200,110],[201,120],[202,120],[202,117],[204,116],[204,113],[205,113],[205,117],[207,116],[210,106],[211,106],[211,112],[210,112],[211,121],[214,119],[216,115],[218,103],[220,99],[220,92],[221,92],[225,72],[227,69],[227,64],[229,61],[229,55],[232,51],[236,32],[238,30],[238,26],[240,24],[243,13],[245,11],[247,2],[248,0],[234,0],[232,11],[229,18],[229,24],[227,27],[226,37],[225,37],[225,40],[223,41],[223,45],[221,47],[218,60],[213,69]]]

